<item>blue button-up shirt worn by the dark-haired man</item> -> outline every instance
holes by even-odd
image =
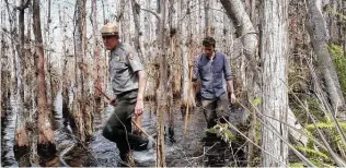
[[[230,62],[224,53],[216,51],[212,59],[207,58],[204,53],[195,59],[193,81],[200,77],[201,97],[214,99],[223,94],[223,80],[232,80]]]

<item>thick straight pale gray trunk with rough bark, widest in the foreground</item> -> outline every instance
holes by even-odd
[[[261,56],[263,56],[263,109],[266,116],[264,122],[272,124],[274,130],[262,127],[262,148],[278,157],[280,163],[262,153],[262,166],[280,167],[288,164],[288,146],[275,132],[288,139],[287,125],[269,117],[287,122],[288,115],[288,0],[263,1],[263,34]]]

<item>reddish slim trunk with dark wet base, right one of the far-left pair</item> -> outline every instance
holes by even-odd
[[[55,153],[55,140],[51,124],[48,118],[50,112],[47,104],[47,87],[45,80],[45,58],[41,32],[39,0],[33,2],[33,20],[35,34],[35,52],[37,55],[37,106],[38,106],[38,152],[41,155]],[[48,149],[48,151],[47,151]]]

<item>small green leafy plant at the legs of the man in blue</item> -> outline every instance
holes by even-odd
[[[218,134],[227,143],[235,140],[235,135],[231,132],[231,125],[228,123],[219,123],[209,129],[208,132]]]

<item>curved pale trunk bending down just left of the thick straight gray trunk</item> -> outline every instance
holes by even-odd
[[[252,3],[254,0],[252,0]],[[239,0],[220,0],[222,3],[222,7],[226,9],[228,16],[231,19],[234,28],[237,29],[237,35],[241,37],[242,44],[244,47],[244,56],[247,59],[249,64],[243,72],[244,74],[240,74],[242,77],[242,86],[247,92],[247,99],[250,103],[252,103],[257,95],[255,93],[258,93],[256,88],[258,88],[258,82],[260,82],[260,73],[257,72],[257,63],[255,61],[255,55],[257,49],[257,36],[255,34],[255,28],[245,12],[245,9],[241,1]],[[254,10],[254,9],[252,9]],[[245,60],[243,60],[245,61]],[[237,72],[235,72],[237,73]],[[253,142],[256,142],[255,140],[255,124],[256,124],[256,116],[254,108],[250,108],[251,113],[253,116],[250,118],[250,139]],[[252,163],[254,157],[254,151],[253,151],[253,144],[249,143],[249,152],[247,152],[247,160],[251,160],[249,164]],[[252,166],[252,165],[249,165]]]

